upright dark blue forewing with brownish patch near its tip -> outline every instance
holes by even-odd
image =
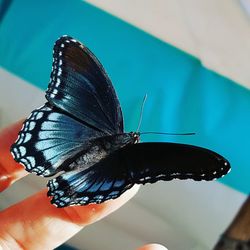
[[[76,119],[106,134],[123,132],[118,98],[98,59],[69,36],[59,38],[53,51],[46,98]]]

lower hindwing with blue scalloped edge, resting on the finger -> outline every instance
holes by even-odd
[[[48,182],[48,196],[57,207],[87,205],[115,199],[133,186],[126,168],[112,156],[85,170],[63,173]]]

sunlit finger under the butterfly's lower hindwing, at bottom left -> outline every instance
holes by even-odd
[[[99,205],[68,208],[51,205],[43,190],[0,213],[0,249],[53,249],[121,207],[137,190]]]

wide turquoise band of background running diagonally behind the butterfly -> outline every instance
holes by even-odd
[[[136,129],[147,93],[141,131],[197,134],[144,136],[144,141],[171,140],[213,149],[233,167],[221,181],[249,193],[249,90],[80,0],[13,1],[0,23],[0,65],[46,89],[53,43],[63,34],[85,43],[103,63],[121,101],[127,131]]]

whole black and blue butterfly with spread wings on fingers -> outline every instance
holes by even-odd
[[[208,149],[177,143],[139,143],[124,133],[115,90],[97,58],[69,36],[53,51],[48,100],[26,119],[11,147],[29,172],[57,177],[48,196],[57,207],[101,203],[134,184],[213,180],[230,164]]]

